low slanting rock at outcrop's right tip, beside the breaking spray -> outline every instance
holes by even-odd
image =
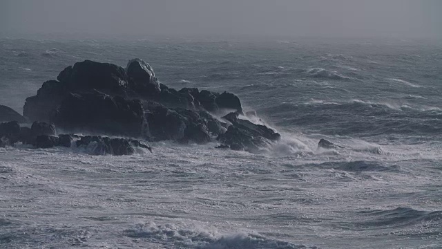
[[[253,124],[249,120],[232,122],[226,133],[218,136],[218,140],[229,145],[233,150],[259,151],[261,147],[279,140],[280,134],[261,124]]]

